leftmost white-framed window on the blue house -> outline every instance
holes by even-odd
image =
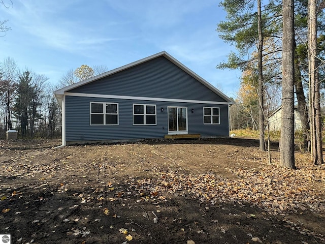
[[[118,103],[90,103],[90,125],[118,125]]]

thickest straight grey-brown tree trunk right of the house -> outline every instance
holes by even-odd
[[[283,0],[282,51],[282,113],[280,137],[280,166],[295,168],[294,126],[294,0]]]

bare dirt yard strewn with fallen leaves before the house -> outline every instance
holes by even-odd
[[[325,167],[277,167],[243,138],[0,141],[11,243],[325,243]]]

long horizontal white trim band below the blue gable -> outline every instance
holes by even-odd
[[[203,103],[203,104],[221,104],[221,105],[231,104],[229,102],[214,102],[214,101],[201,101],[201,100],[169,99],[169,98],[147,98],[147,97],[116,96],[116,95],[86,94],[86,93],[64,93],[64,95],[73,96],[73,97],[129,99],[129,100],[155,101],[155,102]]]

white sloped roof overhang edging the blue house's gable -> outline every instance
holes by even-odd
[[[140,60],[137,60],[133,63],[121,66],[119,68],[107,71],[103,74],[100,75],[96,75],[93,76],[89,79],[85,79],[82,81],[79,81],[75,84],[72,85],[68,85],[66,87],[63,87],[61,89],[58,89],[54,92],[55,98],[57,99],[57,101],[59,102],[60,106],[62,105],[62,99],[63,99],[63,95],[65,92],[68,92],[69,90],[72,90],[74,88],[77,88],[79,86],[88,84],[90,82],[99,80],[101,78],[110,76],[112,74],[118,73],[120,71],[126,70],[128,68],[140,65],[142,63],[145,63],[151,59],[157,58],[163,56],[165,58],[167,58],[170,62],[172,62],[174,65],[176,65],[177,67],[179,67],[181,70],[183,70],[184,72],[186,72],[187,74],[189,74],[190,76],[192,76],[194,79],[198,80],[199,82],[201,82],[203,85],[205,85],[206,87],[208,87],[210,90],[212,90],[212,92],[214,92],[215,94],[219,95],[221,98],[223,98],[226,102],[228,102],[229,104],[234,104],[235,102],[230,99],[228,96],[224,95],[222,92],[220,92],[220,90],[218,90],[217,88],[215,88],[213,85],[211,85],[209,82],[207,82],[205,79],[203,79],[201,76],[199,76],[198,74],[194,73],[193,71],[191,71],[190,69],[188,69],[186,66],[184,66],[183,64],[181,64],[176,58],[174,58],[172,55],[170,55],[169,53],[167,53],[166,51],[162,51],[162,52],[158,52],[156,54],[153,54],[151,56],[142,58]]]

